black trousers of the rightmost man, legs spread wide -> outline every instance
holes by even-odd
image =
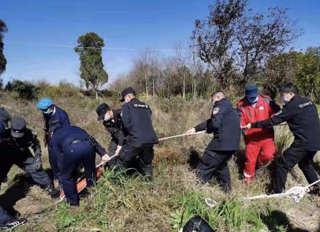
[[[298,164],[308,183],[318,180],[312,165],[315,153],[316,151],[300,148],[298,144],[293,142],[275,164],[272,192],[281,193],[285,189],[286,176],[295,164]]]

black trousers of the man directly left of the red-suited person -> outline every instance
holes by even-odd
[[[220,182],[223,190],[231,190],[231,179],[227,161],[234,154],[235,150],[213,151],[205,149],[197,165],[198,178],[207,182],[212,176]]]

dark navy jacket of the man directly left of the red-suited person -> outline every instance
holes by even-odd
[[[209,150],[237,150],[240,142],[240,117],[230,101],[222,98],[215,102],[209,119],[196,125],[195,131],[213,133],[206,147]]]

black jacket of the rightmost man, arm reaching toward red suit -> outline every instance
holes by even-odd
[[[268,127],[283,121],[288,123],[296,145],[311,151],[320,150],[319,115],[311,100],[294,95],[273,117],[253,122],[251,127]]]

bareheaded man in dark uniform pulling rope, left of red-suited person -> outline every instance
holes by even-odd
[[[197,176],[203,182],[215,176],[220,181],[223,190],[230,192],[231,180],[227,161],[239,148],[240,118],[222,91],[214,92],[210,100],[213,105],[211,117],[186,131],[186,134],[200,130],[213,133],[214,136],[204,149],[196,167]]]

